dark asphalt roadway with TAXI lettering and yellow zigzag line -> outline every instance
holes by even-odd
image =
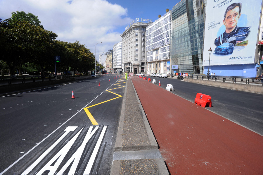
[[[109,174],[126,85],[119,79],[1,97],[0,174]]]

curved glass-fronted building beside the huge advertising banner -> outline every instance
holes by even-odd
[[[172,8],[171,65],[173,73],[203,73],[206,0],[181,0]]]

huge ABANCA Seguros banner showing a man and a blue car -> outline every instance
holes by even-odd
[[[253,64],[262,0],[207,1],[203,66]]]

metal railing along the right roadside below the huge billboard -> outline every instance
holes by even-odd
[[[246,84],[262,84],[263,86],[263,83],[261,83],[261,79],[263,79],[262,77],[239,77],[239,76],[208,76],[208,75],[203,75],[203,74],[200,74],[200,75],[189,75],[188,74],[188,78],[194,78],[196,76],[196,79],[199,79],[200,77],[202,77],[202,80],[204,79],[207,79],[207,80],[214,80],[214,81],[217,81],[217,80],[220,80],[220,78],[222,78],[222,81],[223,82],[233,82],[233,83],[246,83]],[[244,79],[246,81],[244,81]],[[256,80],[256,81],[255,81]],[[257,81],[259,80],[259,81]]]

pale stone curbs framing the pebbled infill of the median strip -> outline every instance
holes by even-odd
[[[128,81],[127,81],[128,82]],[[138,167],[138,165],[145,165],[143,162],[147,162],[151,159],[155,159],[156,161],[156,167],[158,169],[159,175],[168,175],[169,172],[167,170],[167,167],[165,165],[165,161],[162,158],[160,151],[158,150],[158,144],[156,142],[156,139],[153,135],[153,132],[151,130],[150,124],[148,122],[148,119],[144,113],[143,107],[141,105],[141,102],[139,100],[139,97],[137,95],[137,92],[135,90],[135,87],[131,81],[131,84],[133,86],[136,99],[139,102],[139,108],[141,110],[141,113],[143,115],[143,122],[146,128],[146,132],[150,141],[150,146],[128,146],[128,147],[122,147],[122,134],[123,134],[123,128],[124,128],[124,118],[125,118],[125,105],[126,105],[126,95],[127,95],[127,83],[123,95],[123,101],[122,101],[122,109],[120,114],[120,121],[115,141],[115,147],[114,152],[116,152],[117,155],[122,155],[122,157],[118,157],[116,154],[113,155],[113,162],[110,174],[111,175],[118,175],[122,172],[122,162],[126,161],[129,162],[129,165],[133,168],[129,169],[131,173],[134,173],[134,168]],[[126,172],[129,173],[129,172]],[[139,173],[141,174],[141,173]],[[144,173],[142,173],[144,174]]]

